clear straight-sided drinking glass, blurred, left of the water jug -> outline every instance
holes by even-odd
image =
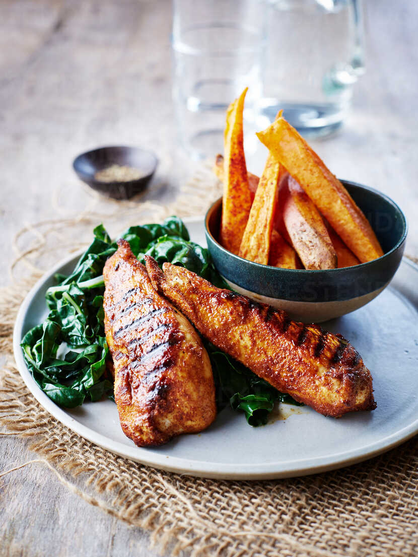
[[[265,0],[173,0],[173,99],[181,143],[194,159],[223,151],[227,106],[245,87],[245,135],[255,137],[266,6]]]

